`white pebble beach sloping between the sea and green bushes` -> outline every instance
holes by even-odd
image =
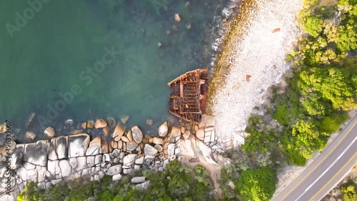
[[[296,16],[301,8],[301,0],[258,1],[243,37],[228,41],[230,71],[213,98],[216,132],[223,147],[231,145],[226,143],[231,140],[233,145],[243,143],[240,134],[253,107],[263,102],[266,89],[290,68],[284,59],[300,34]]]

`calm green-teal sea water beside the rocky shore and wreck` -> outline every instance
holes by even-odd
[[[228,0],[186,2],[52,0],[24,23],[16,19],[17,13],[31,16],[27,1],[1,1],[1,121],[11,120],[21,143],[26,131],[45,139],[44,128],[60,131],[66,119],[76,128],[85,120],[118,121],[122,115],[129,115],[128,128],[139,125],[154,134],[169,117],[166,84],[186,71],[210,67]],[[176,13],[180,22],[174,21]],[[113,61],[104,56],[106,49],[117,52]],[[101,67],[103,56],[108,64]],[[94,65],[100,72],[91,72]],[[68,96],[72,91],[78,95]],[[31,113],[35,118],[26,127]],[[146,125],[147,118],[154,125]]]

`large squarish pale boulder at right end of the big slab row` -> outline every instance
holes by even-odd
[[[89,139],[86,133],[69,136],[69,158],[86,155]]]

